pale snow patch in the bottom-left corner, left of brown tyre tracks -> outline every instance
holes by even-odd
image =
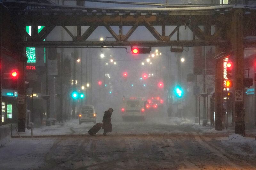
[[[0,167],[4,170],[37,169],[43,166],[44,154],[55,139],[13,138],[0,148]],[[0,169],[2,169],[0,168]]]

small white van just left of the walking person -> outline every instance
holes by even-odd
[[[81,114],[79,114],[79,124],[83,122],[96,123],[96,112],[93,106],[82,106]]]

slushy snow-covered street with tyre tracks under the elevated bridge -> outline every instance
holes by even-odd
[[[186,119],[112,122],[108,136],[68,122],[43,130],[72,128],[66,135],[12,138],[0,169],[256,169],[254,138],[203,133]]]

